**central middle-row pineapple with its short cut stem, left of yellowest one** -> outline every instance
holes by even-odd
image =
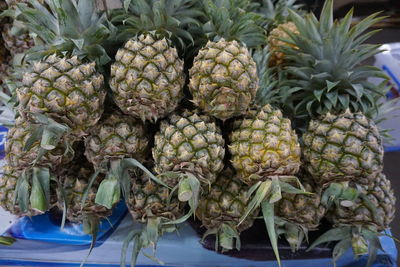
[[[222,171],[224,146],[220,128],[208,115],[185,110],[161,122],[152,149],[154,170],[166,185],[178,188],[189,214],[196,211],[201,191]]]

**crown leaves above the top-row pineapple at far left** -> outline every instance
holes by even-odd
[[[61,53],[77,55],[103,66],[111,58],[102,46],[112,38],[115,29],[105,13],[98,13],[90,0],[46,0],[47,5],[30,0],[33,6],[17,4],[21,14],[17,20],[24,22],[30,32],[37,34],[42,44],[28,51],[28,60],[38,60],[46,55]]]

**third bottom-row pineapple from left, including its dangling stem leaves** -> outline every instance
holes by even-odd
[[[134,240],[131,261],[134,266],[142,248],[151,246],[155,253],[159,237],[165,232],[176,230],[174,225],[184,214],[184,205],[176,194],[171,196],[168,188],[155,183],[147,175],[139,175],[133,179],[126,202],[133,220],[146,225],[139,232],[133,230],[125,240],[126,245]],[[126,248],[123,253],[126,253]],[[154,255],[144,255],[157,260]],[[121,264],[125,264],[125,258],[122,259]]]

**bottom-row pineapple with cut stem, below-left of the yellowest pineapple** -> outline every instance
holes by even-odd
[[[210,192],[201,197],[196,216],[207,228],[204,237],[216,234],[215,249],[240,250],[239,234],[253,225],[258,209],[237,226],[249,201],[248,186],[237,179],[231,169],[225,169],[212,184]],[[235,233],[232,236],[228,233]],[[234,243],[234,239],[236,243]],[[234,245],[236,244],[236,245]]]

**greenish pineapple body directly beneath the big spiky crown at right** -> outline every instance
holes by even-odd
[[[375,123],[362,113],[326,114],[303,135],[304,160],[318,184],[368,184],[383,168],[383,146]]]

